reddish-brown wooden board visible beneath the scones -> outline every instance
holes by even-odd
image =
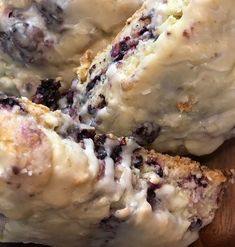
[[[210,168],[235,169],[235,139],[215,153],[196,159]],[[201,231],[199,241],[192,247],[235,247],[235,184],[229,184],[215,220]]]

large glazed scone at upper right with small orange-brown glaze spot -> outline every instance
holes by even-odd
[[[86,71],[79,109],[100,132],[211,153],[235,126],[235,2],[148,0]]]

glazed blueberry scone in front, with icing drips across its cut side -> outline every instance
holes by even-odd
[[[185,247],[212,221],[226,181],[188,158],[6,97],[0,160],[3,242]]]

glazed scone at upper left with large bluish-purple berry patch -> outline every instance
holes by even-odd
[[[0,90],[31,96],[41,78],[55,77],[68,86],[81,54],[104,47],[139,6],[140,0],[1,0]]]

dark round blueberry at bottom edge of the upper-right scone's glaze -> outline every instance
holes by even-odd
[[[146,146],[152,144],[159,136],[161,128],[154,122],[145,122],[138,125],[133,131],[133,137],[140,145]]]

